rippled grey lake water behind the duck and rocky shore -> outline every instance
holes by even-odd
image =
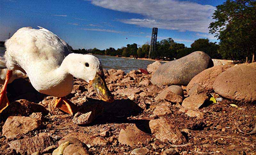
[[[1,56],[4,55],[5,48],[0,47]],[[154,61],[151,60],[139,60],[139,59],[129,59],[129,58],[121,58],[114,56],[106,56],[106,55],[94,55],[100,59],[103,68],[105,69],[122,69],[124,72],[128,73],[131,70],[143,68],[146,69],[147,66]]]

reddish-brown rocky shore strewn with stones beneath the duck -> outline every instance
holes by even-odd
[[[150,74],[105,70],[113,103],[98,100],[90,85],[75,79],[67,96],[78,107],[75,116],[17,79],[8,85],[12,103],[1,114],[0,154],[255,155],[255,133],[243,132],[254,129],[256,105],[241,93],[231,100],[214,91],[220,90],[215,78],[232,66],[206,69],[187,87],[153,85],[156,66]]]

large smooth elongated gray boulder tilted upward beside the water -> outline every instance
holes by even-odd
[[[154,85],[187,85],[203,70],[213,67],[212,59],[202,51],[196,51],[178,60],[166,62],[156,70],[151,78]]]

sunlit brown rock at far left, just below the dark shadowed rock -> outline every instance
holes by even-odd
[[[3,126],[3,135],[6,138],[13,139],[37,129],[41,121],[36,118],[25,116],[10,116]]]

